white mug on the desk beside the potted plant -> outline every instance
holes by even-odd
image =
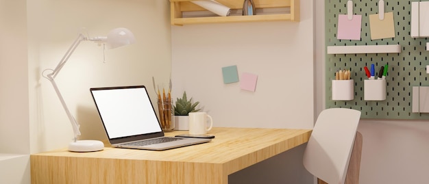
[[[210,131],[213,126],[212,116],[206,112],[190,112],[189,116],[189,134],[191,135],[202,135]],[[210,120],[210,121],[208,121]],[[207,127],[207,124],[210,126]]]

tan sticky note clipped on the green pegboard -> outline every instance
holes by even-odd
[[[395,38],[393,12],[384,13],[383,20],[380,20],[378,14],[370,14],[369,27],[371,29],[371,40]]]

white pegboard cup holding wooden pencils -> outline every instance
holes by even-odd
[[[332,101],[352,101],[354,80],[332,80]]]

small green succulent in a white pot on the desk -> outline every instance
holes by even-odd
[[[192,98],[188,100],[186,96],[186,91],[183,92],[182,98],[177,98],[174,105],[174,122],[175,122],[175,130],[188,130],[188,114],[190,112],[199,111],[201,109],[197,109],[197,105],[199,101],[195,103],[192,102]]]

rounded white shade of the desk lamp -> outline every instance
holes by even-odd
[[[122,47],[134,42],[136,42],[134,34],[132,34],[130,30],[123,27],[112,29],[112,31],[109,32],[106,40],[108,49]]]

